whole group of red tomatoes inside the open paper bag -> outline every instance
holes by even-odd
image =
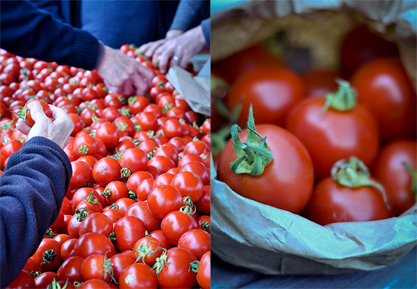
[[[361,25],[341,44],[337,72],[297,74],[261,45],[212,71],[230,85],[217,101],[241,109],[242,128],[250,119],[215,156],[218,179],[239,195],[322,225],[381,220],[415,204],[416,92],[393,42]]]

